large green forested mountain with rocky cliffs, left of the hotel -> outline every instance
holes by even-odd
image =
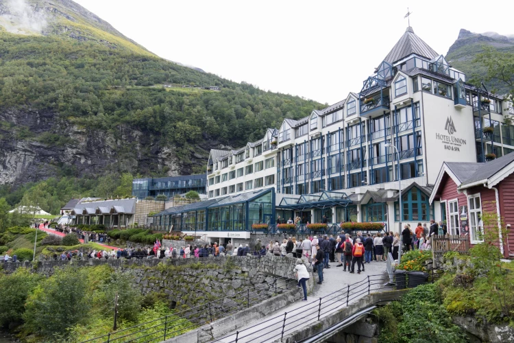
[[[0,41],[0,185],[199,173],[323,108],[164,60],[70,0],[0,0]]]

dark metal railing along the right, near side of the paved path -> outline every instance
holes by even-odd
[[[326,318],[334,314],[343,307],[348,307],[351,303],[354,303],[362,296],[376,293],[380,290],[392,290],[395,287],[393,282],[385,282],[392,280],[391,277],[387,278],[390,274],[370,275],[367,276],[363,281],[354,283],[353,285],[343,285],[342,289],[332,292],[321,298],[310,301],[302,307],[293,309],[289,312],[284,312],[273,318],[269,318],[263,322],[247,327],[236,333],[230,333],[222,338],[211,341],[223,342],[223,343],[243,343],[243,342],[273,342],[284,338],[284,335],[293,333],[304,325],[317,322],[322,318]],[[393,274],[394,275],[394,274]],[[424,283],[424,281],[433,282],[439,277],[439,274],[432,272],[428,274],[427,279],[424,276],[410,275],[408,276],[413,284]],[[417,279],[419,278],[419,280]],[[420,282],[419,282],[420,281]],[[398,284],[398,288],[408,287],[408,283],[405,279],[400,281],[402,285]],[[400,287],[402,286],[402,287]],[[352,314],[349,314],[351,316]]]

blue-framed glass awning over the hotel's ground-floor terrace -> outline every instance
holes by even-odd
[[[323,191],[318,194],[304,194],[299,199],[283,198],[278,207],[280,209],[291,209],[305,211],[307,209],[327,209],[333,206],[348,206],[352,200],[346,193],[337,191]]]

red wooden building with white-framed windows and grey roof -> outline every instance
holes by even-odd
[[[498,244],[504,257],[514,258],[514,154],[487,163],[443,163],[430,203],[440,206],[448,233],[468,234],[471,244],[482,242],[482,211],[496,213],[503,220],[495,225]],[[506,226],[507,237],[500,225]]]

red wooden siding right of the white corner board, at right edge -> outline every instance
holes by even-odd
[[[505,257],[514,257],[514,174],[504,178],[498,185],[500,213],[504,224],[511,224],[505,240]]]

